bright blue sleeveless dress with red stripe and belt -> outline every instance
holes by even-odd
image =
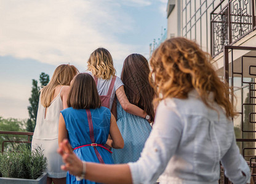
[[[110,110],[106,107],[90,109],[92,125],[94,130],[94,140],[97,144],[106,144],[110,132]],[[74,149],[74,153],[83,161],[100,163],[96,151],[100,153],[105,164],[113,164],[111,153],[102,147],[91,147],[82,145],[92,144],[89,130],[89,121],[87,119],[86,109],[73,109],[69,107],[61,111],[68,131],[68,139]],[[81,148],[77,148],[81,147]],[[97,149],[97,150],[95,150]],[[66,183],[95,183],[89,180],[77,181],[74,175],[66,174]]]

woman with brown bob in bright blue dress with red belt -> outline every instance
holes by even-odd
[[[71,83],[68,95],[68,108],[60,113],[58,141],[68,138],[74,153],[84,161],[113,164],[111,151],[124,147],[124,140],[110,109],[101,107],[100,98],[93,77],[78,74]],[[79,180],[71,174],[66,175],[66,183],[95,183]]]

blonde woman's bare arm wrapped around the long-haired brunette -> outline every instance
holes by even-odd
[[[124,109],[126,112],[132,113],[133,115],[137,115],[142,118],[146,117],[146,112],[144,110],[129,102],[126,93],[124,92],[124,86],[121,86],[118,88],[118,90],[116,90],[116,96],[122,106],[122,109]]]

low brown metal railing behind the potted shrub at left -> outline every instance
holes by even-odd
[[[28,136],[27,140],[4,140],[2,141],[2,149],[1,152],[4,152],[4,145],[5,143],[31,143],[30,136],[33,136],[33,132],[14,132],[14,131],[0,131],[0,136],[1,135],[14,135],[15,136]]]

